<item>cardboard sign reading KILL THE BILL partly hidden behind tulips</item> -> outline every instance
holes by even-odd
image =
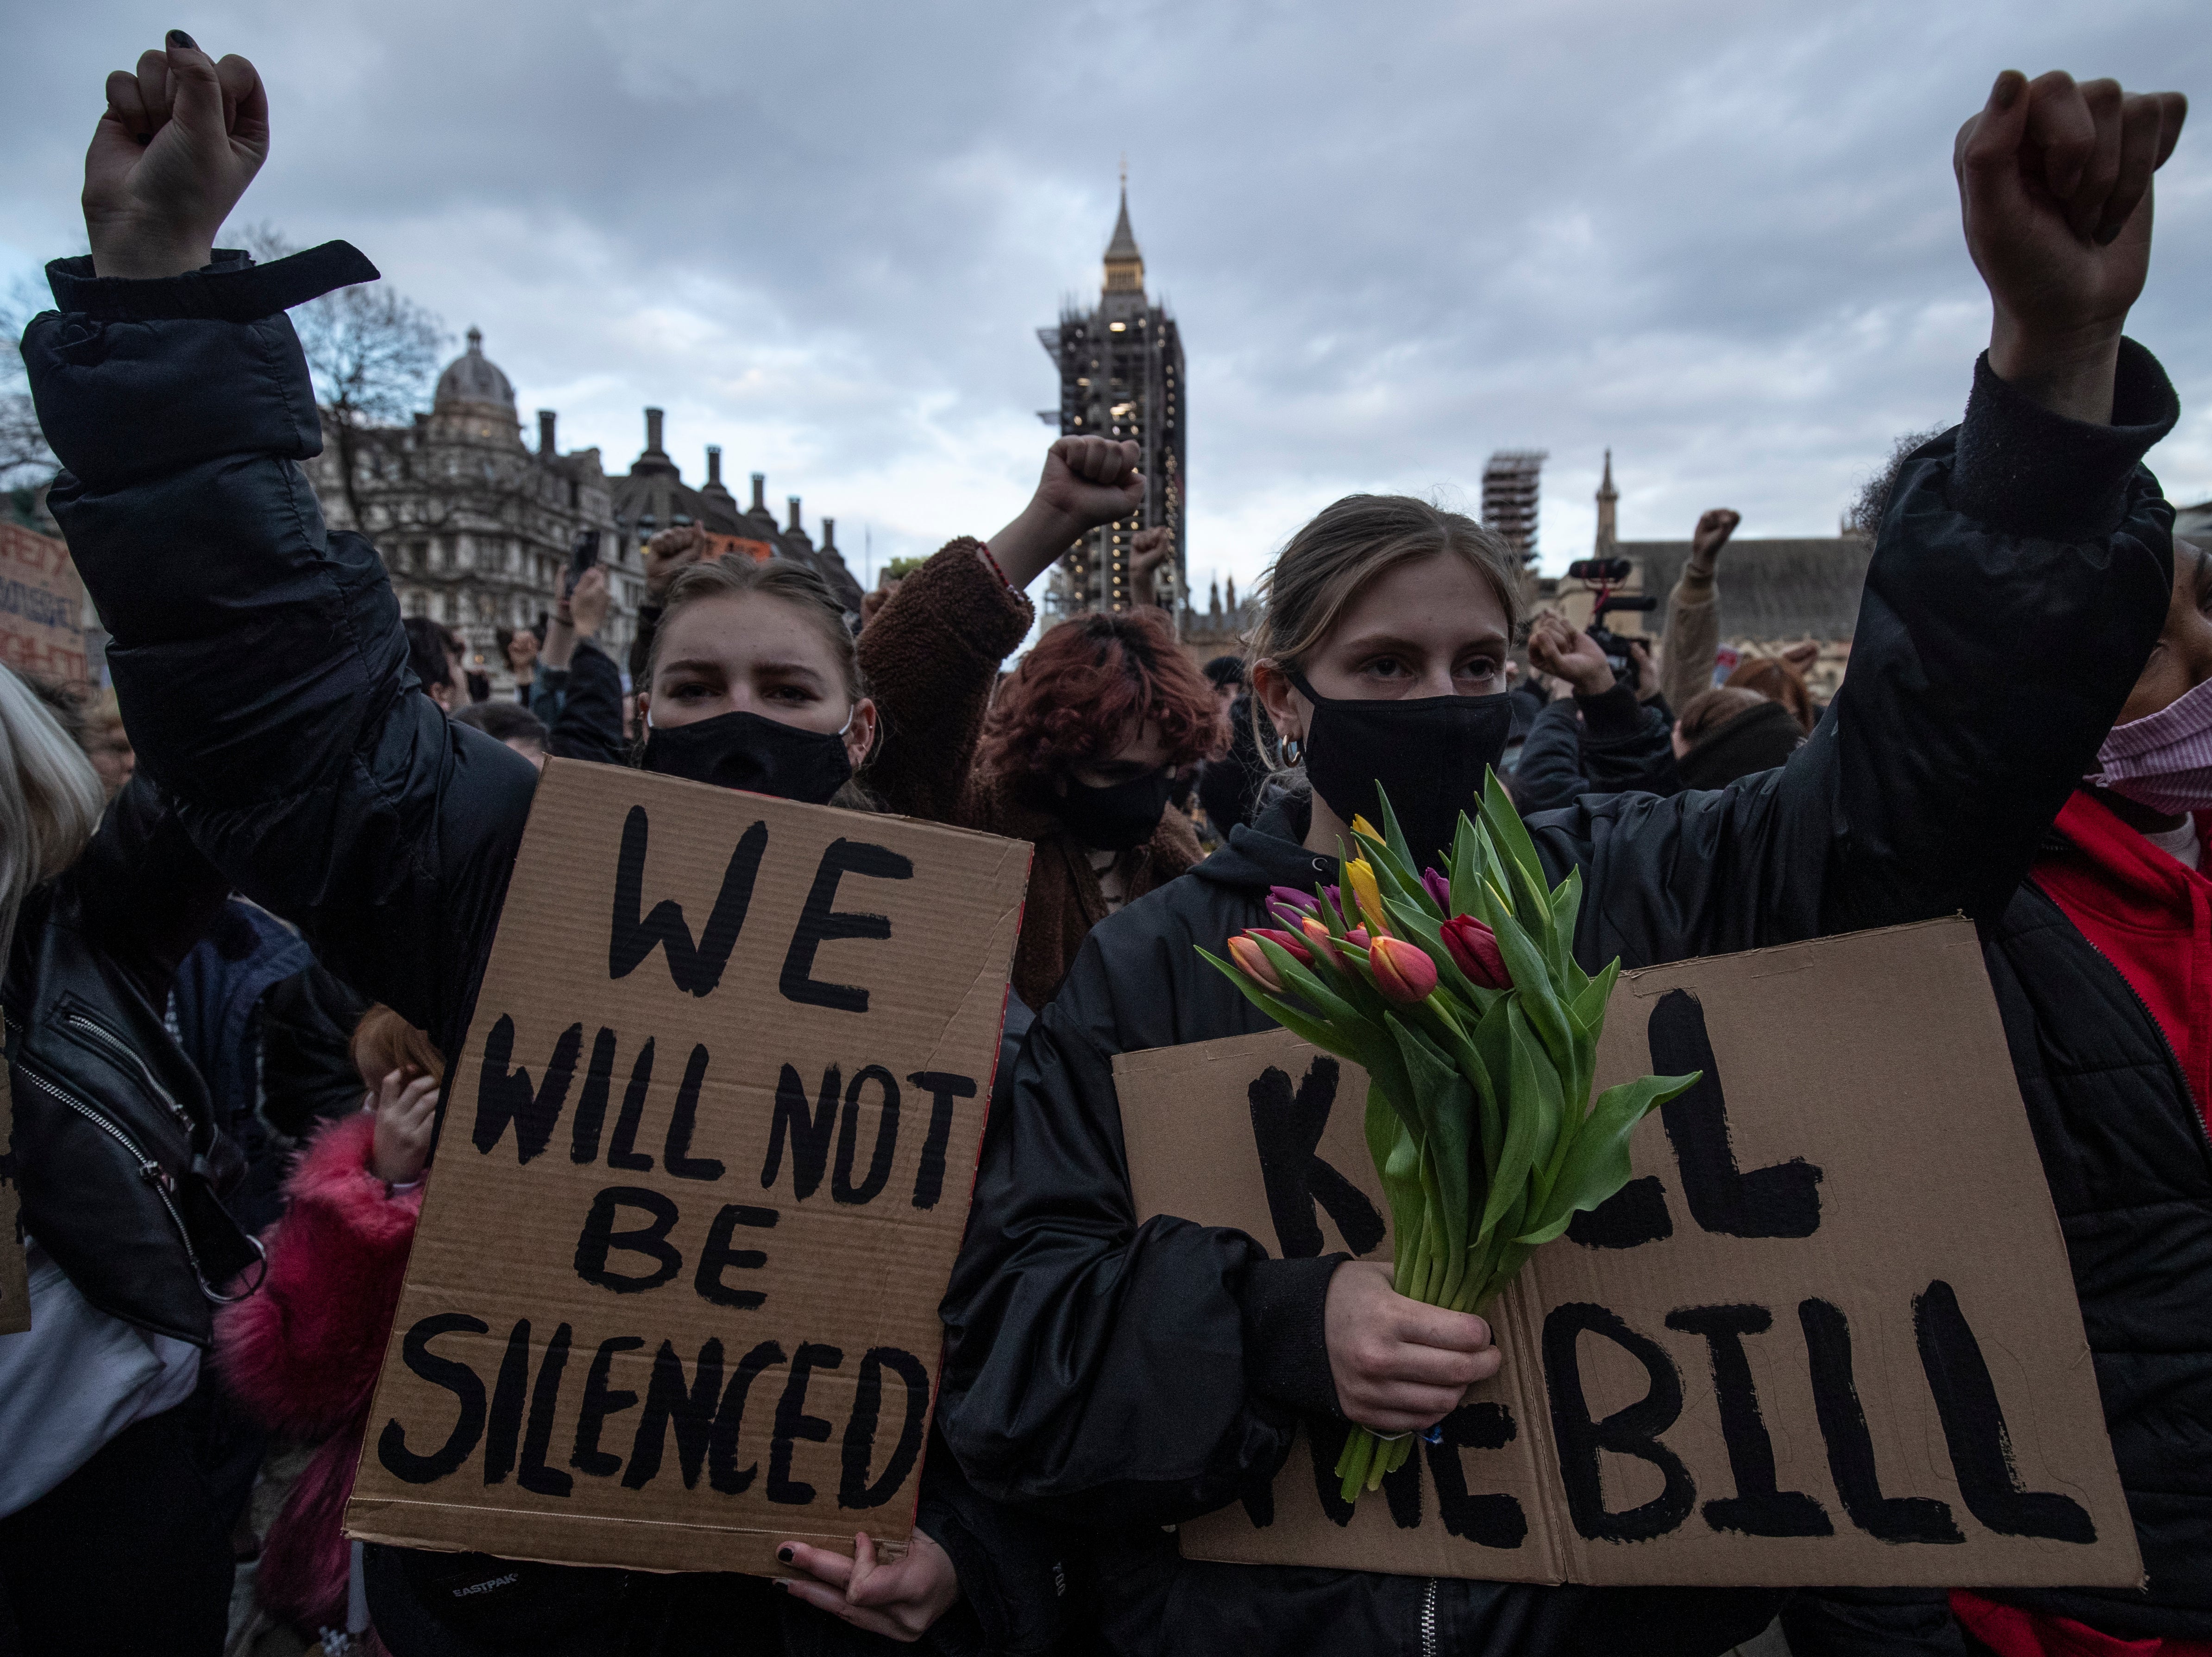
[[[1703,1082],[1491,1307],[1504,1369],[1345,1507],[1343,1427],[1186,1555],[1586,1584],[2135,1586],[1975,931],[1626,973],[1597,1086]],[[1287,1031],[1115,1060],[1139,1215],[1389,1259],[1367,1080]]]

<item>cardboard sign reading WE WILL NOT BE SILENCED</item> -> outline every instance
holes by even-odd
[[[549,761],[347,1533],[896,1553],[1029,845]]]

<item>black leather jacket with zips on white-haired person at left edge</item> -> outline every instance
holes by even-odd
[[[246,1159],[161,1013],[228,894],[133,781],[24,900],[4,984],[22,1228],[95,1307],[197,1345],[254,1259],[221,1206]]]

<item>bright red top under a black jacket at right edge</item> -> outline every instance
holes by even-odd
[[[2208,827],[2212,812],[2199,812],[2197,832],[2212,850]],[[2066,850],[2039,858],[2031,878],[2143,998],[2212,1126],[2212,880],[2086,790],[2066,801],[2057,832]],[[2212,1657],[2205,1642],[2119,1639],[1964,1591],[1953,1591],[1951,1608],[1997,1657]]]

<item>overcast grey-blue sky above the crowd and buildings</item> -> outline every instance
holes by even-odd
[[[270,82],[241,221],[482,327],[611,471],[666,407],[688,480],[721,442],[856,573],[863,531],[880,562],[1026,498],[1035,327],[1095,299],[1126,153],[1201,593],[1352,489],[1475,507],[1500,447],[1551,451],[1548,569],[1606,447],[1624,538],[1834,533],[1986,343],[1951,135],[1995,71],[2172,86],[2130,332],[2181,387],[2152,465],[2212,496],[2203,0],[0,7],[0,277],[82,248],[102,77],[190,29]]]

